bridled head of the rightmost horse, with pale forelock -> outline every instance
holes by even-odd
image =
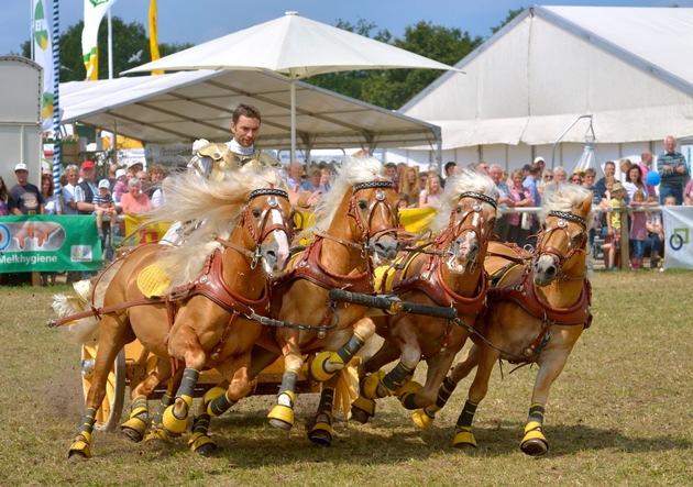
[[[544,199],[540,211],[543,224],[531,262],[534,281],[537,286],[548,286],[556,279],[583,279],[592,193],[581,186],[561,185],[548,198],[544,192]]]

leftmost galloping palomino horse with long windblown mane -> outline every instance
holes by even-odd
[[[158,357],[155,372],[132,391],[127,427],[140,438],[146,428],[146,397],[172,375],[170,358],[185,363],[185,369],[163,416],[167,432],[185,430],[205,366],[220,367],[230,380],[228,390],[216,390],[206,402],[232,403],[249,392],[250,352],[261,331],[250,317],[268,313],[267,278],[284,267],[293,233],[288,196],[276,189],[280,182],[275,170],[252,168],[219,182],[185,175],[165,185],[167,202],[154,218],[186,222],[186,244],[136,247],[117,262],[108,283],[97,285],[106,290],[97,311],[101,320],[95,375],[70,456],[91,456],[95,414],[108,372],[123,345],[135,337]],[[142,283],[150,270],[150,279],[151,274],[158,278],[155,285],[165,283],[158,291]]]

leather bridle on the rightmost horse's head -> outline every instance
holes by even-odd
[[[556,262],[556,267],[558,269],[558,276],[568,280],[571,279],[563,275],[563,266],[568,261],[570,261],[573,255],[578,254],[586,254],[586,242],[587,242],[587,222],[584,218],[579,217],[576,214],[566,212],[566,211],[550,211],[549,217],[556,217],[556,225],[553,226],[544,226],[537,235],[537,252],[532,256],[532,265],[537,264],[537,261],[542,255],[550,255]],[[569,222],[578,223],[582,226],[582,232],[575,239],[571,235],[569,231]],[[562,232],[562,233],[561,233]],[[553,235],[564,234],[568,240],[568,248],[563,253],[558,246],[550,245],[549,241]],[[584,276],[576,277],[576,279],[582,279]]]

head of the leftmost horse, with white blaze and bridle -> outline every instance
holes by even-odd
[[[267,274],[284,269],[294,236],[293,217],[286,191],[276,188],[250,191],[239,226],[245,229],[246,247],[253,250],[252,268],[262,262]]]

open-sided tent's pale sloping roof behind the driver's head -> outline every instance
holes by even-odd
[[[302,148],[435,150],[440,140],[436,125],[304,82],[297,82],[296,99]],[[262,147],[289,146],[289,80],[280,75],[198,70],[61,85],[63,123],[81,122],[150,143],[227,141],[241,102],[262,113]]]

